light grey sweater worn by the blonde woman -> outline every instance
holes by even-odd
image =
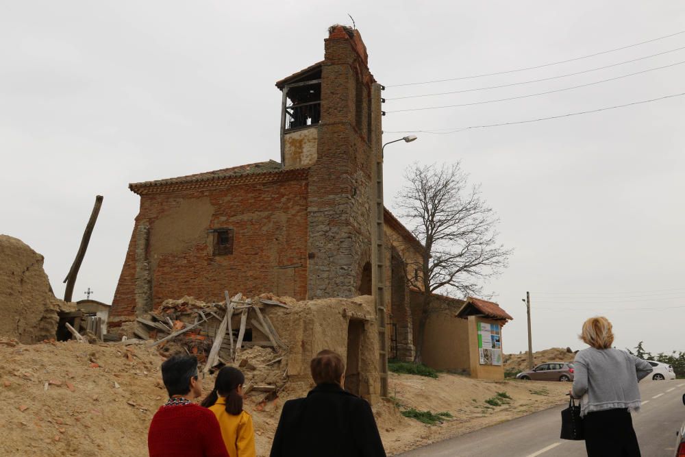
[[[638,381],[652,371],[649,362],[619,349],[588,347],[573,360],[573,397],[581,398],[580,415],[614,408],[640,410]]]

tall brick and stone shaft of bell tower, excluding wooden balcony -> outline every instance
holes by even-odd
[[[362,48],[357,32],[351,38],[339,29],[325,40],[308,202],[310,298],[358,295],[371,260],[373,154],[366,126],[373,77]]]

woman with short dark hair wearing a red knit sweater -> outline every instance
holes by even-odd
[[[147,433],[150,457],[229,457],[214,413],[192,402],[202,395],[195,356],[162,363],[169,401],[155,412]]]

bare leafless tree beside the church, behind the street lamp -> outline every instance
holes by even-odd
[[[432,294],[479,295],[482,282],[507,267],[510,250],[497,243],[497,215],[482,200],[479,186],[467,184],[459,162],[413,164],[397,194],[399,216],[425,246],[420,262],[406,258],[408,283],[422,293],[416,332],[416,356],[421,362],[425,325],[432,312]],[[413,267],[410,269],[409,267]]]

